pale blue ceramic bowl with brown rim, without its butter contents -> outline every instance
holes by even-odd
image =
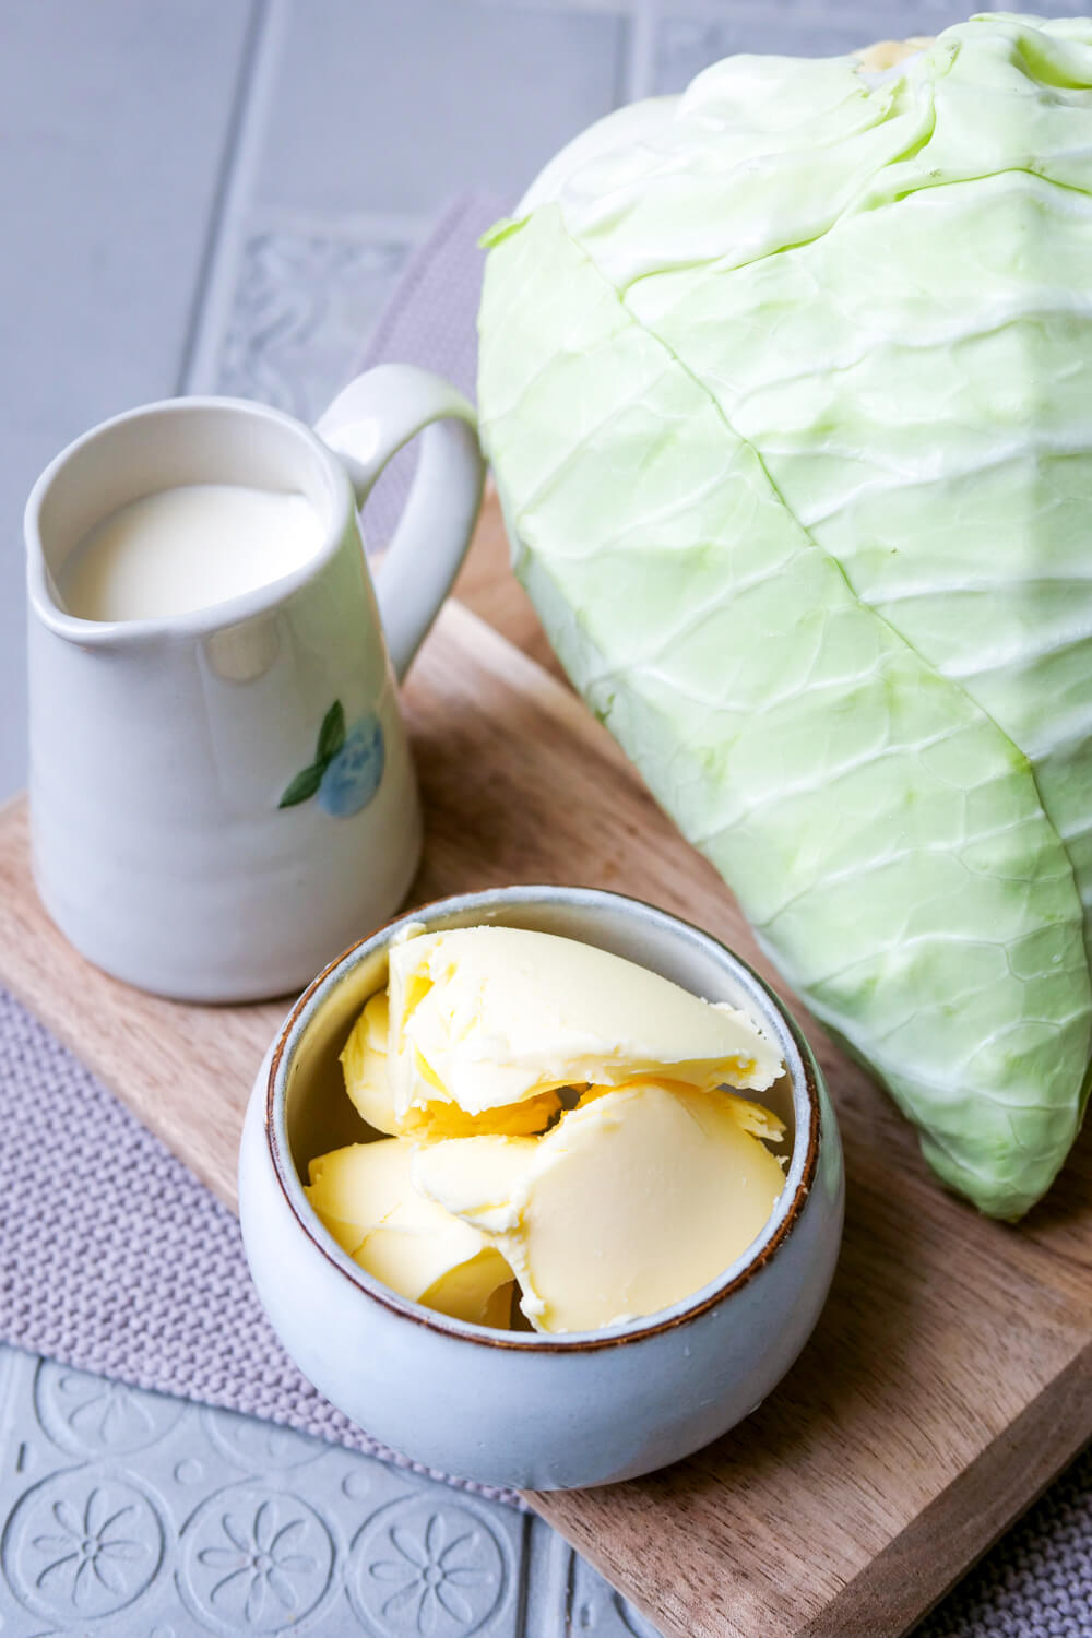
[[[786,1075],[763,1094],[786,1122],[784,1191],[763,1233],[709,1286],[643,1320],[542,1337],[434,1314],[380,1284],[326,1233],[308,1161],[370,1129],[337,1055],[386,983],[408,922],[499,922],[581,939],[709,1001],[743,1007]],[[383,927],[321,973],[259,1071],[239,1163],[242,1237],[259,1297],[303,1374],[395,1450],[517,1489],[629,1479],[689,1455],[755,1410],[819,1319],[838,1256],[842,1143],[822,1075],[766,984],[709,934],[584,888],[503,888],[444,899]]]

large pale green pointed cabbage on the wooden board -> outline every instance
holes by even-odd
[[[1092,1035],[1092,21],[732,57],[491,236],[481,428],[568,673],[935,1171]]]

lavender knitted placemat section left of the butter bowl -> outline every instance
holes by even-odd
[[[0,1340],[445,1477],[305,1381],[232,1214],[3,989],[0,1130]]]

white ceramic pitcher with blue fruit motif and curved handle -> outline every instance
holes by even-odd
[[[357,506],[422,429],[373,585]],[[398,909],[421,812],[396,678],[455,578],[481,478],[473,410],[409,365],[359,377],[316,431],[177,398],[46,468],[26,506],[33,862],[83,955],[159,994],[250,1001],[300,989]],[[72,616],[57,580],[87,531],[185,483],[300,491],[323,545],[190,614]]]

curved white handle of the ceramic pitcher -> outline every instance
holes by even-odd
[[[359,506],[391,455],[424,432],[409,500],[373,577],[399,681],[470,545],[485,482],[476,428],[463,395],[414,364],[380,364],[359,375],[314,428],[345,467]]]

